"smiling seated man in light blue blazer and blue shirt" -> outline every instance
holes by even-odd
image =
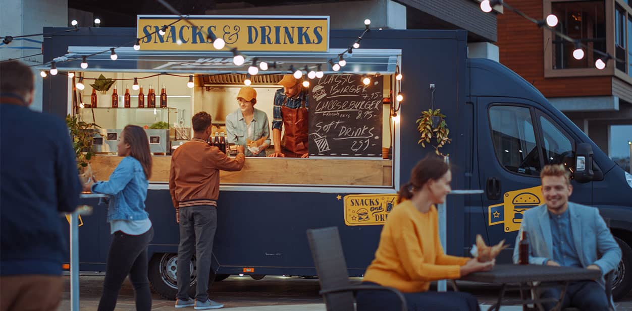
[[[521,232],[529,243],[529,263],[599,270],[597,281],[569,284],[562,310],[607,311],[604,275],[621,261],[621,249],[605,225],[599,210],[568,201],[573,193],[569,172],[563,165],[547,165],[540,173],[545,204],[525,211]],[[513,261],[518,262],[521,234],[516,237]],[[559,288],[545,290],[542,298],[559,298]],[[543,303],[547,310],[555,303]]]

